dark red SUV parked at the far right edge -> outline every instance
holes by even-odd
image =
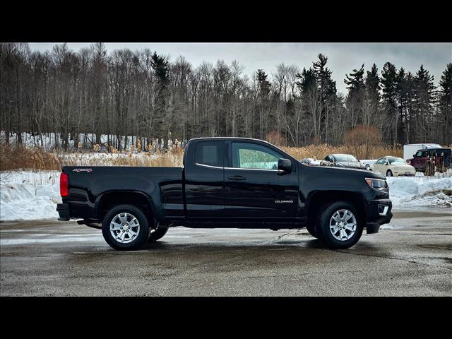
[[[417,150],[407,163],[415,167],[417,172],[425,175],[434,175],[435,172],[446,172],[451,168],[451,148],[424,148]]]

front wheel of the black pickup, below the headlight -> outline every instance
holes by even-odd
[[[331,249],[348,249],[361,238],[363,222],[355,206],[338,201],[324,208],[316,233]]]

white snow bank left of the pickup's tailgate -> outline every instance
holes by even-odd
[[[1,172],[0,221],[58,218],[59,172]]]

